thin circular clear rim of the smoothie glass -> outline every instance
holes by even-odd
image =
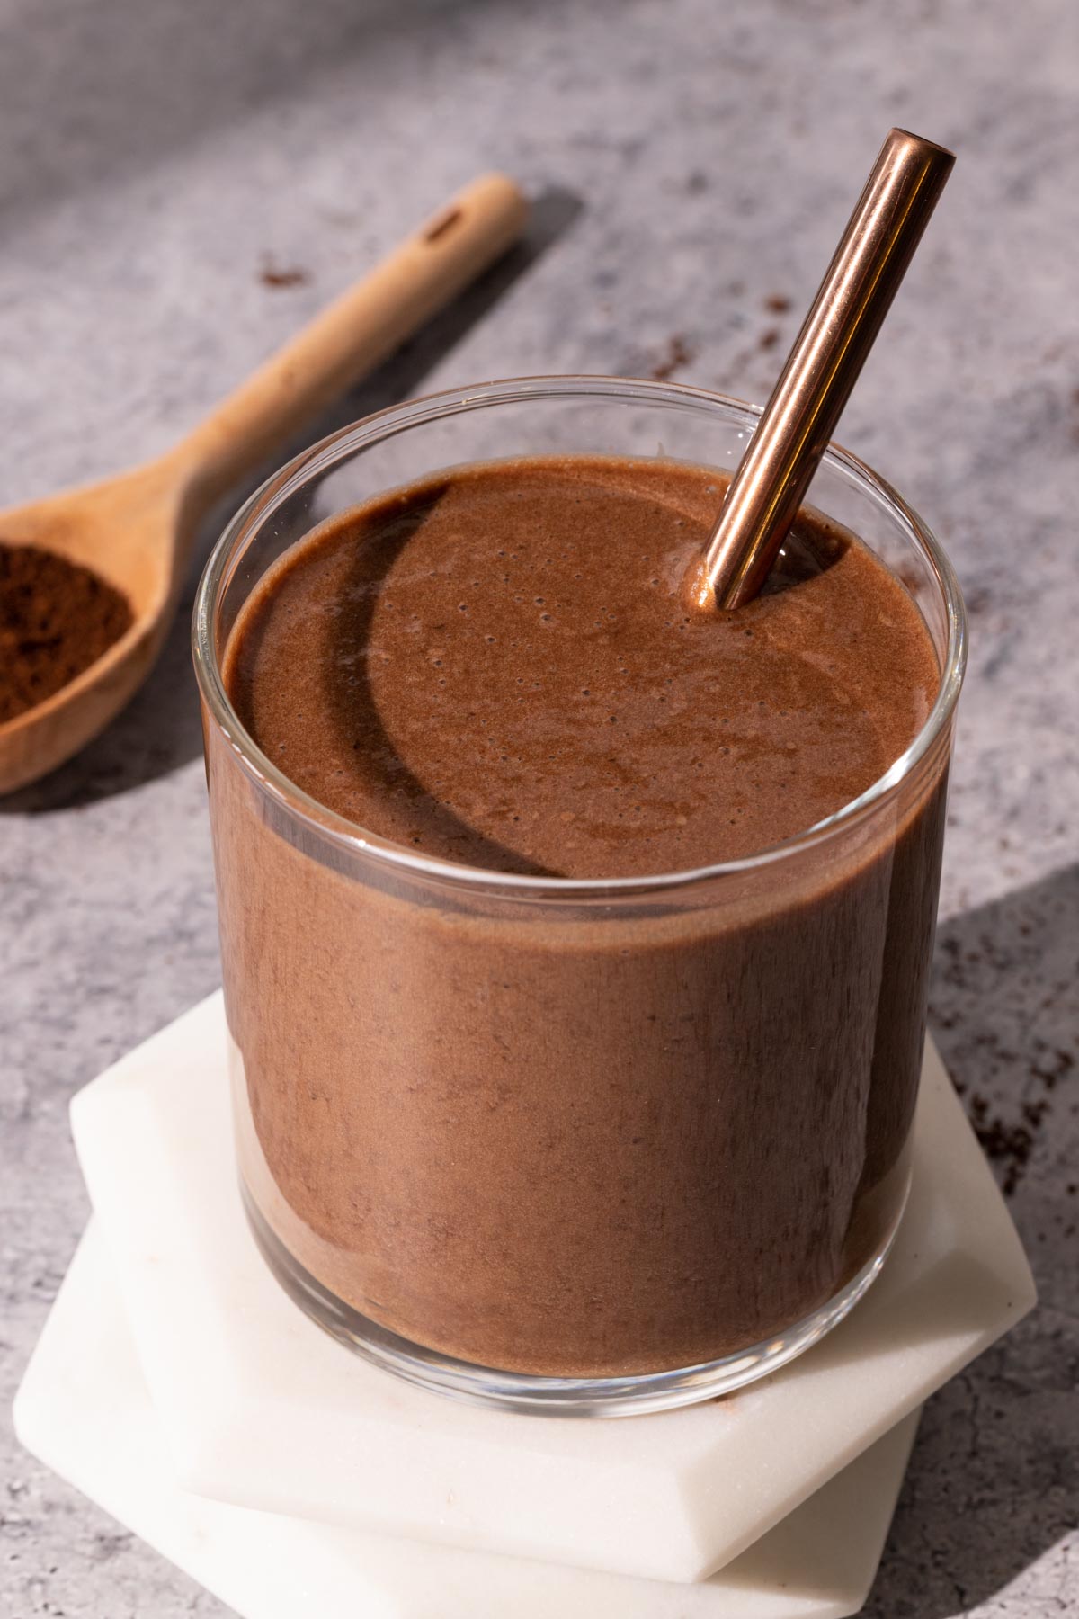
[[[235,567],[243,554],[239,542],[257,525],[270,518],[312,474],[330,471],[335,465],[351,458],[358,450],[445,416],[458,416],[495,405],[521,405],[560,398],[637,400],[642,405],[652,406],[689,406],[702,413],[739,416],[751,431],[764,410],[760,405],[751,405],[746,400],[692,387],[684,382],[654,382],[641,377],[608,376],[506,377],[469,387],[445,389],[437,393],[406,400],[401,405],[390,405],[385,410],[374,411],[370,416],[340,427],[309,448],[301,450],[277,473],[272,473],[241,505],[230,523],[226,523],[202,570],[194,601],[191,643],[199,691],[212,720],[222,730],[252,780],[288,814],[296,816],[353,855],[367,856],[413,876],[422,876],[455,887],[505,892],[506,897],[518,899],[547,897],[560,900],[595,900],[605,895],[616,899],[620,895],[654,894],[657,890],[663,892],[704,884],[723,876],[765,869],[806,848],[828,842],[836,834],[857,824],[878,805],[888,801],[932,751],[951,720],[966,669],[967,617],[959,580],[932,529],[891,484],[880,478],[865,461],[851,455],[849,450],[841,448],[838,444],[828,445],[823,461],[833,471],[838,471],[848,484],[869,489],[883,500],[890,507],[891,515],[899,520],[901,526],[908,529],[909,538],[914,539],[916,546],[927,557],[943,599],[948,638],[940,690],[914,740],[865,792],[806,831],[738,860],[721,860],[705,866],[649,873],[645,876],[548,877],[490,871],[484,866],[469,866],[451,860],[438,860],[432,855],[417,855],[401,843],[366,831],[354,821],[348,821],[345,816],[336,814],[336,811],[328,810],[317,798],[311,797],[311,793],[306,793],[259,748],[254,737],[241,724],[225,690],[214,635],[217,604],[230,584]]]

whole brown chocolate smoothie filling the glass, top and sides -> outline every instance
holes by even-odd
[[[550,457],[383,495],[260,581],[235,709],[317,805],[413,855],[547,879],[760,855],[888,771],[940,672],[898,580],[807,512],[760,599],[689,615],[721,491]],[[336,1298],[480,1365],[626,1375],[781,1332],[878,1253],[940,759],[820,847],[537,907],[377,860],[358,882],[220,748],[241,1169],[264,1235]]]

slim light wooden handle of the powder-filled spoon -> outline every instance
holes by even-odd
[[[458,191],[414,236],[241,384],[176,448],[207,504],[346,392],[521,235],[527,204],[505,175]]]

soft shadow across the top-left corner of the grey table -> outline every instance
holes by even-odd
[[[406,87],[459,13],[505,0],[11,0],[0,52],[5,227],[99,186],[116,189],[186,147],[358,63],[362,83]],[[437,141],[416,97],[417,151]],[[362,130],[364,125],[361,123]],[[369,130],[364,138],[369,139]],[[354,131],[343,136],[354,138]]]

